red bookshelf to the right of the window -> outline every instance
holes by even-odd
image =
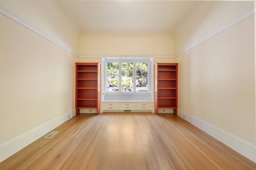
[[[155,64],[155,114],[158,109],[178,109],[178,63]]]

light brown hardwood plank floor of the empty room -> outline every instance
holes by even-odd
[[[256,169],[256,163],[172,114],[80,114],[53,131],[59,132],[20,150],[0,169]]]

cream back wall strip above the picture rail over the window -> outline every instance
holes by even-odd
[[[80,55],[174,55],[172,34],[82,33]]]

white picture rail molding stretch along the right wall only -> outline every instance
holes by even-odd
[[[231,27],[231,26],[237,24],[238,22],[243,21],[245,18],[247,18],[247,17],[249,17],[249,16],[255,14],[255,12],[256,12],[256,7],[254,7],[254,8],[252,8],[252,9],[248,10],[247,12],[241,14],[239,17],[236,17],[235,19],[233,19],[232,21],[230,21],[230,22],[228,22],[227,24],[223,25],[222,27],[219,27],[218,29],[216,29],[216,30],[213,31],[212,33],[210,33],[210,34],[206,35],[205,37],[199,39],[199,41],[197,41],[197,42],[191,44],[191,45],[188,46],[187,48],[185,48],[185,49],[183,49],[182,51],[178,52],[178,53],[175,55],[175,57],[177,57],[177,56],[179,56],[180,54],[182,54],[182,53],[184,53],[184,52],[190,50],[191,48],[194,48],[195,46],[197,46],[197,45],[199,45],[199,44],[205,42],[206,40],[208,40],[208,39],[214,37],[215,35],[221,33],[222,31],[228,29],[229,27]]]

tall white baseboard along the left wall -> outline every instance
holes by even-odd
[[[25,148],[29,144],[33,143],[40,137],[46,135],[46,133],[52,131],[54,128],[60,126],[62,123],[66,122],[70,118],[76,115],[76,110],[70,110],[66,114],[58,116],[46,122],[30,131],[27,131],[3,144],[0,145],[0,162],[4,161],[8,157],[12,156],[16,152]],[[68,118],[70,116],[70,118]]]

